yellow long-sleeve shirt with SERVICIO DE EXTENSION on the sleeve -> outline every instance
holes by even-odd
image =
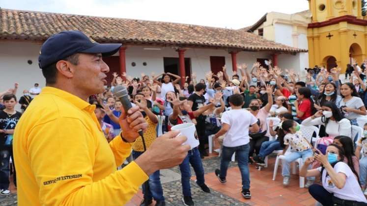
[[[19,206],[121,206],[147,175],[118,136],[107,142],[95,105],[65,91],[42,89],[17,124],[14,158]]]

